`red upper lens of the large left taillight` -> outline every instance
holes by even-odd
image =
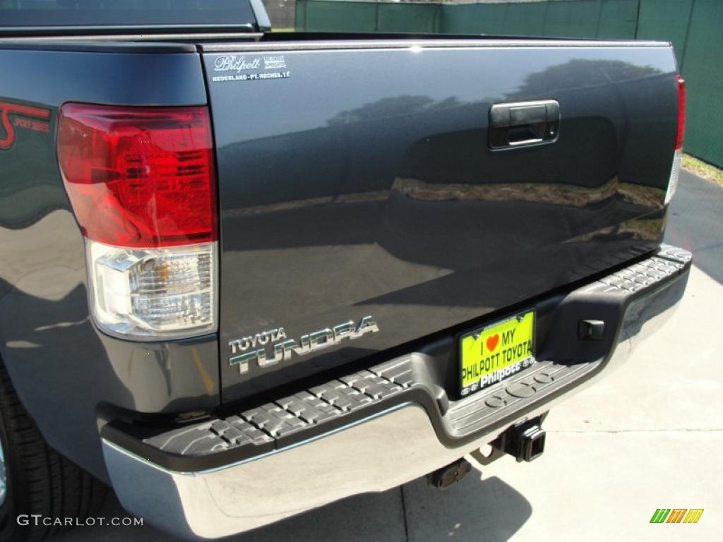
[[[66,103],[58,160],[78,223],[93,241],[160,247],[217,238],[208,108]]]

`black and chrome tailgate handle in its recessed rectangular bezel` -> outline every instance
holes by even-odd
[[[492,149],[554,143],[560,133],[560,104],[556,100],[497,103],[489,109]]]

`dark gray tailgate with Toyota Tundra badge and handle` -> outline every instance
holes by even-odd
[[[204,51],[224,400],[473,326],[662,238],[677,126],[669,46]],[[558,124],[539,116],[550,103]]]

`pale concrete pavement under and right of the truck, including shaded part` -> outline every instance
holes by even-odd
[[[701,187],[681,178],[683,203]],[[691,186],[693,188],[691,188]],[[708,186],[703,186],[707,193]],[[723,209],[723,190],[714,187]],[[710,194],[706,198],[710,198]],[[694,199],[694,198],[693,198]],[[693,200],[691,200],[693,201]],[[686,204],[687,205],[687,204]],[[669,237],[690,239],[720,270],[716,220],[690,228],[673,206]],[[681,212],[682,211],[682,212]],[[681,217],[685,215],[685,220]],[[698,212],[700,215],[700,212]],[[697,226],[696,226],[697,227]],[[719,245],[718,245],[719,246]],[[697,256],[697,254],[696,254]],[[545,425],[547,451],[529,464],[511,457],[447,491],[424,480],[355,496],[230,540],[251,541],[709,541],[723,528],[723,285],[694,268],[688,292],[653,340],[622,369],[559,405]],[[252,499],[253,496],[249,496]],[[240,503],[240,506],[243,504]],[[703,508],[695,525],[651,525],[656,508]],[[101,512],[124,516],[115,499]],[[78,528],[59,541],[167,542],[150,527]]]

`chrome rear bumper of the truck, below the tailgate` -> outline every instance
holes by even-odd
[[[669,272],[655,271],[651,262],[656,259],[663,262],[659,269],[668,265]],[[617,275],[603,278],[565,296],[570,309],[553,319],[560,329],[566,328],[571,317],[586,314],[576,304],[587,306],[590,318],[596,317],[591,309],[597,306],[611,320],[619,311],[604,356],[579,363],[540,361],[534,371],[521,371],[445,407],[435,401],[433,387],[422,382],[432,378],[426,372],[424,354],[411,353],[371,369],[385,374],[390,366],[406,363],[419,382],[400,384],[389,396],[370,402],[368,406],[377,405],[377,409],[368,416],[360,408],[356,416],[338,416],[335,426],[310,432],[309,438],[304,438],[307,433],[301,429],[295,439],[279,439],[281,444],[259,455],[197,470],[171,466],[192,465],[194,458],[162,465],[160,454],[167,453],[163,446],[159,455],[143,457],[147,444],[131,450],[129,439],[116,438],[117,431],[105,431],[103,453],[116,494],[129,512],[153,525],[182,538],[203,539],[254,529],[346,496],[385,491],[424,476],[492,441],[510,423],[549,410],[553,403],[625,361],[638,337],[653,332],[683,296],[690,254],[665,247],[641,263],[643,268],[629,268],[636,267],[635,276],[621,271],[623,279],[635,286],[622,287]],[[611,278],[615,280],[606,280]],[[542,378],[536,378],[543,373],[549,379],[544,385],[539,384]],[[388,380],[393,382],[393,378]],[[534,393],[518,397],[524,394],[515,394],[515,385],[529,386]],[[425,395],[429,400],[417,400]],[[198,431],[206,431],[208,425],[199,426]]]

